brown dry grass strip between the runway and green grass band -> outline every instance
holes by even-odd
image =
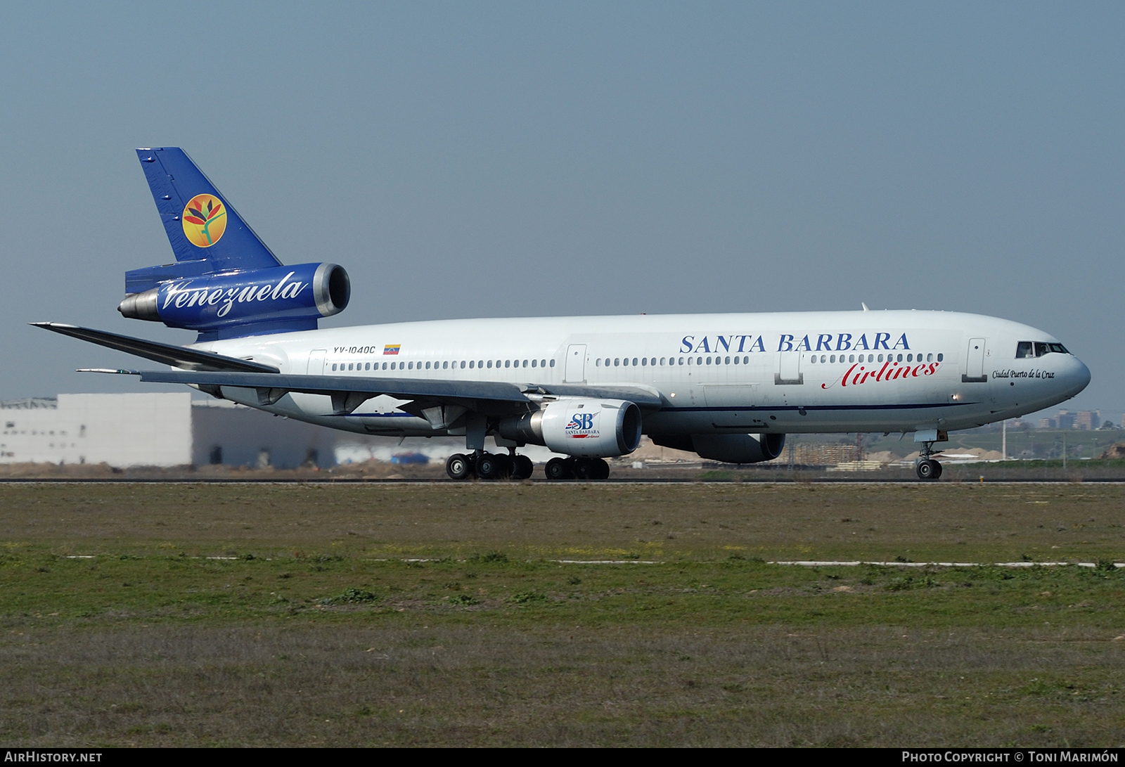
[[[1123,502],[1066,484],[0,485],[0,530],[66,553],[1095,561],[1123,554]]]

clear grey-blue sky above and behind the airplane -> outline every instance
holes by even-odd
[[[133,152],[182,146],[322,327],[948,309],[1125,412],[1120,3],[6,3],[0,399],[153,390],[56,321],[172,260]],[[174,389],[172,389],[174,390]]]

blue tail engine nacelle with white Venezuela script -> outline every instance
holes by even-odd
[[[248,325],[315,330],[320,317],[343,312],[350,298],[343,267],[302,263],[169,280],[126,296],[117,310],[222,337],[226,328]]]

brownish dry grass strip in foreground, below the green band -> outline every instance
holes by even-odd
[[[1125,724],[1122,643],[1066,632],[180,625],[3,659],[11,746],[1105,746]]]

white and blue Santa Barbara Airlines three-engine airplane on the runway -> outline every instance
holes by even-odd
[[[89,369],[184,383],[331,428],[464,436],[450,478],[606,479],[654,443],[724,463],[782,454],[786,434],[900,432],[936,480],[948,432],[1050,407],[1090,371],[1054,336],[974,314],[789,312],[449,319],[318,330],[348,272],[282,265],[180,148],[137,157],[176,261],[128,271],[126,318],[198,333],[186,346],[62,323],[45,330],[168,366]],[[486,450],[492,437],[496,452]]]

